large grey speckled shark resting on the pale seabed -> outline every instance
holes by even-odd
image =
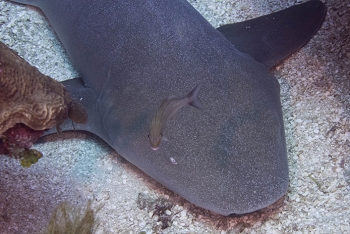
[[[16,2],[43,10],[82,76],[64,82],[89,115],[76,129],[98,135],[170,190],[218,214],[253,212],[286,193],[279,83],[269,69],[318,30],[326,12],[320,1],[281,11],[278,22],[272,14],[267,26],[264,17],[247,21],[259,27],[254,31],[219,29],[227,38],[185,0]],[[254,53],[263,47],[268,53]],[[204,108],[179,110],[167,124],[168,141],[152,150],[147,136],[161,101],[200,82]],[[70,122],[61,128],[72,130]]]

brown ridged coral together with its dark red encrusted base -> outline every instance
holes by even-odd
[[[44,130],[67,118],[84,124],[87,113],[64,85],[45,76],[15,51],[0,42],[0,154],[40,158],[28,151]],[[23,161],[22,160],[22,161]],[[27,160],[27,161],[28,161]],[[23,165],[30,165],[27,161]]]

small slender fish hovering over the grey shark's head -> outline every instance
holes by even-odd
[[[197,97],[198,92],[202,86],[202,83],[198,84],[187,96],[183,98],[168,98],[164,100],[155,114],[151,122],[149,131],[149,141],[153,150],[158,150],[159,145],[164,138],[165,126],[170,119],[180,110],[183,106],[189,104],[197,107],[198,109],[203,108],[201,100]]]

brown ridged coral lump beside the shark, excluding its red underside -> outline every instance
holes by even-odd
[[[16,123],[45,130],[59,127],[68,117],[76,123],[87,122],[83,106],[61,83],[0,42],[0,135]]]

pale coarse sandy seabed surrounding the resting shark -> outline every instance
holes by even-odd
[[[217,27],[299,1],[190,2]],[[321,30],[274,72],[281,83],[289,153],[284,201],[241,218],[215,215],[167,190],[97,137],[64,133],[34,146],[44,157],[29,169],[0,157],[0,233],[40,233],[59,202],[84,204],[93,196],[95,204],[105,204],[97,233],[161,230],[157,217],[137,207],[139,193],[175,205],[168,212],[172,225],[162,233],[350,233],[350,2],[327,5]],[[0,40],[57,80],[78,75],[32,7],[0,0]]]

